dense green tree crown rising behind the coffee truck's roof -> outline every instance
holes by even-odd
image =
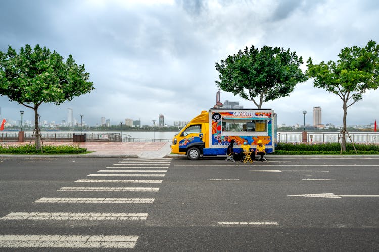
[[[259,51],[252,45],[216,63],[220,73],[216,85],[261,108],[263,102],[289,96],[297,83],[308,79],[300,69],[302,63],[290,49],[263,46]]]

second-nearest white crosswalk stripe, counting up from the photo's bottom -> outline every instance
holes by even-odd
[[[132,220],[143,221],[148,213],[14,212],[0,220]]]

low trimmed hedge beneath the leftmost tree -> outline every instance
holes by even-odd
[[[35,144],[33,145],[18,145],[18,146],[1,146],[0,154],[79,154],[87,151],[86,148],[79,148],[75,145],[45,145],[41,150],[35,149]]]

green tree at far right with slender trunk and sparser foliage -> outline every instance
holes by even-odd
[[[341,148],[346,151],[347,108],[362,99],[367,90],[379,87],[379,45],[370,40],[365,47],[345,47],[338,54],[337,62],[313,64],[307,61],[309,77],[314,78],[314,86],[338,95],[342,100],[343,128]]]

